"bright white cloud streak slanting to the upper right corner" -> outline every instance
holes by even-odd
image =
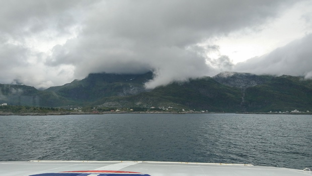
[[[264,24],[214,36],[206,43],[219,46],[218,55],[208,53],[208,56],[218,58],[220,55],[227,55],[233,63],[238,63],[302,38],[312,32],[311,8],[311,1],[298,2]]]

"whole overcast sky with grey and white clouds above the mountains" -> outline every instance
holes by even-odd
[[[0,2],[0,83],[150,70],[148,89],[222,71],[312,78],[310,0]]]

